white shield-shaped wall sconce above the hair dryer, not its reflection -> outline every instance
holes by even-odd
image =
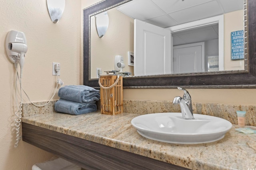
[[[57,23],[64,12],[65,0],[46,0],[46,2],[52,22]]]

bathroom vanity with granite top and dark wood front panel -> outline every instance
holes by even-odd
[[[29,115],[22,117],[22,140],[85,169],[256,168],[256,135],[236,132],[237,125],[216,142],[172,144],[139,135],[130,123],[136,116]]]

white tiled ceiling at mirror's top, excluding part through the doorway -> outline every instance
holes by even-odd
[[[163,28],[242,9],[243,0],[132,0],[118,7],[131,18]]]

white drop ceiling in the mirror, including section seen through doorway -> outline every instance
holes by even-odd
[[[243,0],[132,0],[118,10],[133,19],[171,27],[243,9]],[[218,24],[173,33],[173,45],[218,39]]]

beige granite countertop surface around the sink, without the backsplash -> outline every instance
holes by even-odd
[[[47,113],[22,117],[22,122],[190,169],[256,168],[256,134],[238,133],[235,131],[237,125],[233,125],[225,137],[216,142],[171,144],[139,135],[130,123],[136,116],[139,115]]]

